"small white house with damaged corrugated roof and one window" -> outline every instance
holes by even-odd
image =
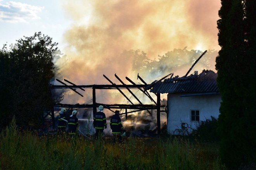
[[[196,128],[199,121],[218,118],[221,95],[217,87],[217,73],[203,70],[195,71],[190,76],[175,76],[156,82],[150,92],[168,93],[167,96],[167,129],[175,133],[186,123]]]

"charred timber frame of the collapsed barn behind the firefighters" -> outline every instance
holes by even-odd
[[[55,89],[56,88],[71,89],[75,93],[80,95],[81,97],[83,97],[83,95],[78,92],[78,89],[85,91],[84,90],[85,88],[87,88],[87,89],[89,88],[89,89],[92,90],[92,99],[90,100],[91,101],[90,104],[61,104],[61,103],[56,103],[56,104],[54,104],[54,106],[58,107],[58,108],[60,108],[60,107],[69,108],[71,110],[78,109],[78,108],[92,108],[92,112],[93,112],[93,114],[95,114],[97,112],[97,107],[99,107],[99,105],[102,105],[102,106],[104,106],[105,109],[108,109],[113,113],[114,113],[114,110],[116,110],[116,109],[118,109],[118,110],[122,109],[123,112],[121,112],[120,115],[125,115],[125,119],[128,118],[128,114],[132,114],[132,113],[135,113],[135,112],[146,111],[151,116],[152,116],[152,114],[156,113],[157,134],[160,134],[160,131],[161,131],[160,112],[164,112],[164,110],[161,110],[161,108],[165,107],[165,105],[161,105],[160,94],[156,94],[156,93],[150,94],[149,92],[147,92],[147,90],[145,90],[145,87],[147,87],[148,84],[139,75],[137,75],[137,79],[139,79],[142,82],[142,84],[136,84],[130,78],[126,77],[126,80],[128,80],[128,82],[131,83],[129,85],[125,84],[116,74],[115,74],[115,77],[121,83],[119,85],[113,83],[106,75],[103,75],[103,76],[111,84],[108,84],[108,85],[76,85],[76,84],[64,79],[65,82],[71,84],[71,85],[67,85],[66,83],[62,82],[61,80],[56,79],[57,82],[61,83],[62,85],[50,85],[50,88],[52,88],[52,89],[54,89],[54,88]],[[105,90],[111,90],[111,89],[118,90],[123,95],[123,97],[125,97],[128,104],[98,103],[97,100],[96,100],[97,99],[96,90],[104,90],[104,89]],[[129,92],[129,96],[126,95],[123,92],[123,89],[127,90]],[[147,97],[151,101],[152,104],[143,104],[142,100],[140,100],[135,95],[135,93],[132,92],[130,89],[137,89],[137,90],[141,91],[145,95],[145,97]],[[152,97],[151,95],[155,95],[155,96]],[[130,100],[131,96],[134,97],[136,103],[134,103],[133,101]],[[156,100],[154,98],[156,98]],[[153,110],[155,110],[155,111],[153,111]],[[49,115],[52,117],[52,121],[54,123],[54,119],[55,119],[54,108],[52,109],[51,113],[49,113]]]

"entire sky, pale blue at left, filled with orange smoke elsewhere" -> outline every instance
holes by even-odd
[[[220,0],[0,0],[0,45],[40,31],[64,54],[55,61],[62,80],[109,84],[102,75],[112,80],[115,73],[134,80],[133,56],[124,51],[139,49],[156,60],[185,47],[218,51],[220,5]]]

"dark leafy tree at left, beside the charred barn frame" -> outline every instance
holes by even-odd
[[[54,54],[60,54],[57,43],[41,32],[0,50],[0,126],[7,126],[13,116],[19,126],[28,126],[50,110],[48,83],[57,70]]]

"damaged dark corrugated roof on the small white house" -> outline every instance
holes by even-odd
[[[203,70],[199,75],[171,77],[163,82],[156,82],[150,92],[153,93],[209,93],[219,92],[217,87],[217,73],[212,70]]]

